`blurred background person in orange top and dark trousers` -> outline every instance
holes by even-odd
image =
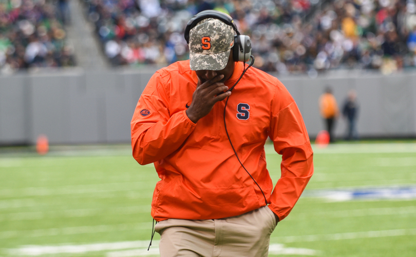
[[[326,129],[329,133],[329,142],[333,143],[335,141],[333,129],[339,109],[335,96],[332,94],[332,89],[329,86],[325,89],[325,93],[319,97],[319,110],[320,115],[325,120]]]

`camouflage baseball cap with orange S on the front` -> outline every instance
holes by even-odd
[[[189,34],[191,70],[224,69],[233,46],[233,27],[219,19],[203,19]]]

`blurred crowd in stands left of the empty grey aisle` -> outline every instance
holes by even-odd
[[[0,0],[0,72],[74,66],[65,0]]]

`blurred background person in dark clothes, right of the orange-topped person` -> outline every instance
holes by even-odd
[[[347,100],[343,107],[343,116],[347,118],[348,127],[345,140],[358,139],[356,120],[358,115],[357,93],[354,89],[348,92]]]

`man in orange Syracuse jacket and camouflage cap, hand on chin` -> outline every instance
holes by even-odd
[[[133,156],[161,179],[152,201],[161,256],[267,256],[313,174],[304,121],[277,78],[245,64],[250,40],[230,16],[199,13],[185,38],[190,61],[150,78],[131,121]],[[282,155],[274,190],[268,137]]]

